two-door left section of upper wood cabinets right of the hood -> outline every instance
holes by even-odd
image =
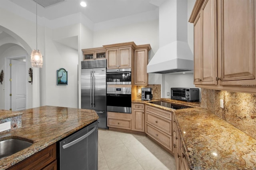
[[[194,84],[216,84],[216,0],[205,0],[194,22]]]

